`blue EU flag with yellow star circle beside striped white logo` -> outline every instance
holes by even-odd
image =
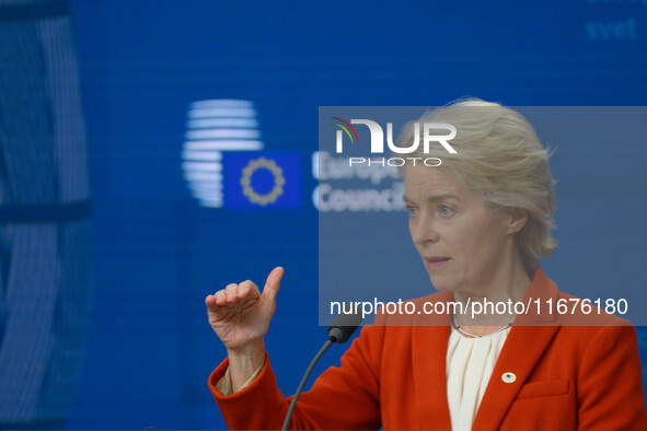
[[[296,208],[301,203],[299,154],[223,154],[226,208]]]

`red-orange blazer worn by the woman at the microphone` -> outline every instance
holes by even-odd
[[[525,295],[562,293],[539,268]],[[439,292],[423,301],[451,301]],[[556,302],[554,302],[556,303]],[[297,403],[292,429],[451,430],[446,360],[447,316],[409,325],[366,326],[342,357]],[[428,318],[428,317],[427,317]],[[391,316],[391,319],[392,316]],[[404,322],[404,321],[403,321]],[[389,324],[389,322],[388,322]],[[565,326],[565,325],[596,326]],[[535,325],[535,326],[523,326]],[[540,325],[540,326],[536,326]],[[247,387],[222,396],[209,387],[230,429],[280,429],[291,397],[276,385],[269,359]],[[505,373],[517,378],[506,383]],[[509,380],[509,378],[508,378]],[[496,362],[473,430],[647,430],[634,328],[611,315],[519,315]]]

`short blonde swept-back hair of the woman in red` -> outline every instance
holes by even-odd
[[[555,195],[548,170],[550,152],[542,147],[530,123],[518,112],[497,103],[464,98],[407,124],[396,147],[411,147],[415,123],[454,126],[457,136],[449,143],[457,154],[434,143],[424,153],[420,136],[420,145],[409,158],[440,159],[441,166],[429,168],[444,170],[477,191],[494,210],[518,208],[528,212],[528,222],[516,240],[525,270],[532,275],[539,258],[551,256],[558,243],[552,235]],[[423,129],[419,128],[420,132]]]

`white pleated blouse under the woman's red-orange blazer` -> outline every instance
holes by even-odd
[[[487,382],[510,328],[470,338],[453,326],[447,347],[447,399],[453,431],[472,429]]]

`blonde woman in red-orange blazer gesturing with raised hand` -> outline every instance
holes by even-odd
[[[402,168],[409,232],[431,284],[425,303],[573,298],[539,266],[557,246],[547,151],[519,113],[481,100],[418,123],[453,125],[457,154]],[[405,127],[397,144],[409,147]],[[421,151],[421,149],[420,149]],[[278,391],[263,337],[282,268],[206,299],[228,349],[209,386],[233,429],[279,429]],[[448,307],[449,308],[449,307]],[[396,325],[396,326],[394,326]],[[555,311],[378,316],[304,393],[294,429],[647,430],[634,328],[619,317]]]

